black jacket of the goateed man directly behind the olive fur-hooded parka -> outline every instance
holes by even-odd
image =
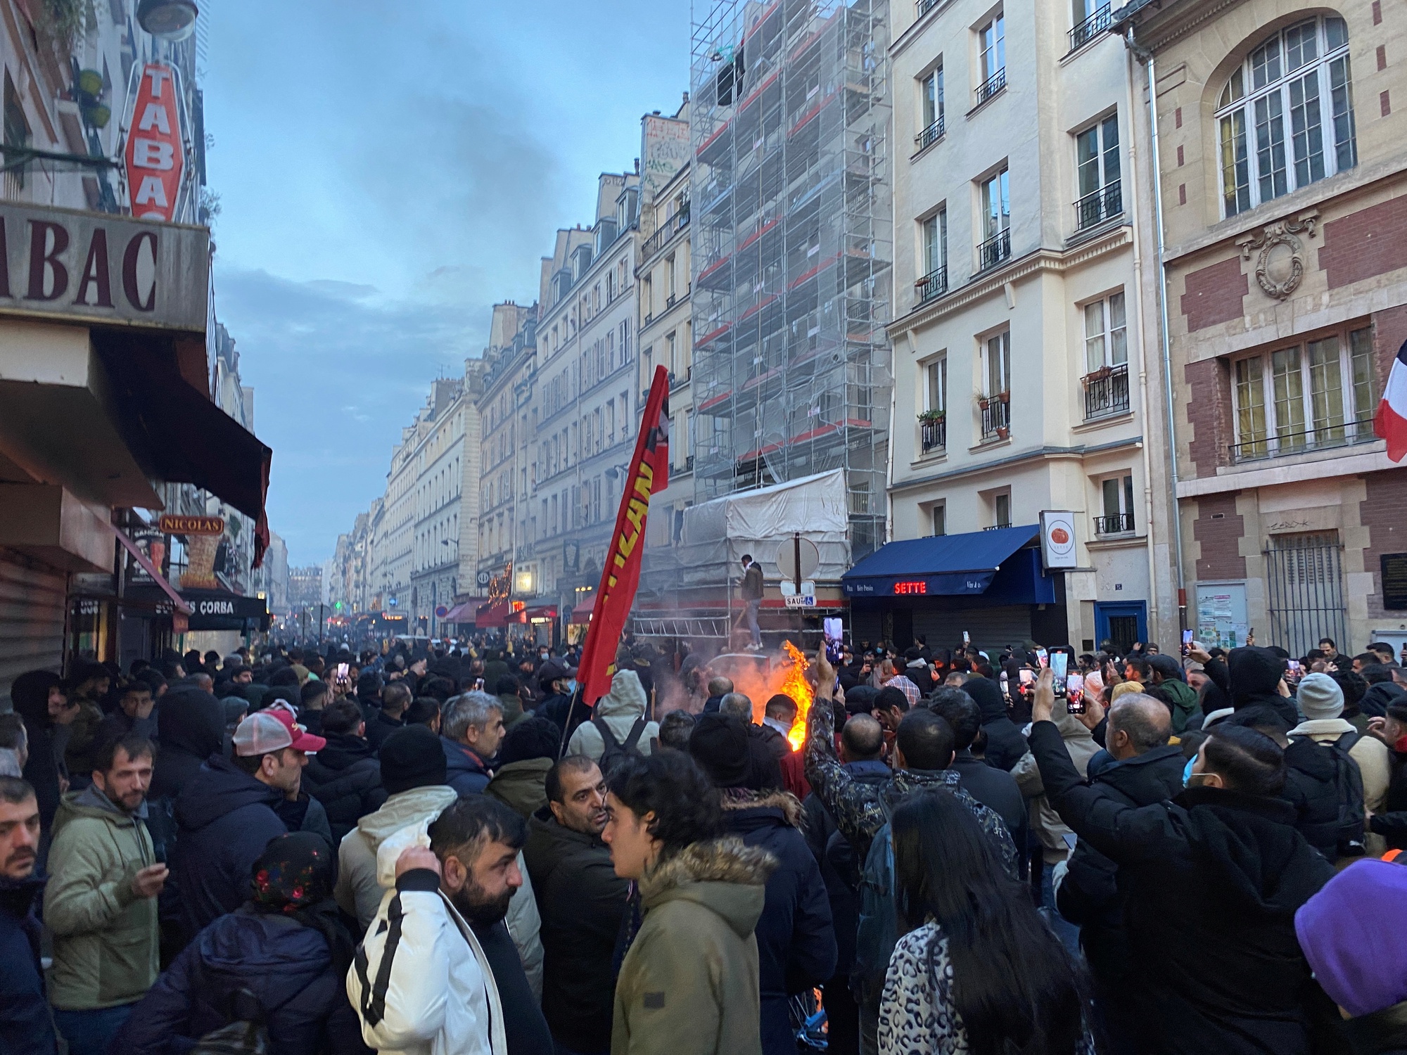
[[[563,827],[549,810],[529,821],[523,859],[542,916],[547,1025],[573,1051],[604,1051],[615,999],[611,955],[630,885],[616,876],[605,843]]]

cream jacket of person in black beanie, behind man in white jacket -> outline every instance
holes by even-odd
[[[412,830],[424,834],[431,821],[457,799],[453,788],[431,785],[412,788],[393,795],[376,813],[369,813],[357,821],[343,838],[338,850],[338,885],[335,897],[349,914],[356,916],[362,927],[370,927],[373,917],[386,904],[386,895],[395,889],[395,858],[390,871],[378,869],[380,850],[393,838],[404,850],[400,836]],[[429,845],[425,838],[422,845]],[[523,962],[523,973],[533,995],[542,1000],[542,917],[537,914],[537,897],[528,878],[528,865],[518,855],[518,869],[523,874],[523,885],[508,902],[508,933],[518,947]],[[381,872],[381,874],[378,874]]]

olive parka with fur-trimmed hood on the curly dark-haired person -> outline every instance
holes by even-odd
[[[611,1055],[761,1055],[753,931],[775,858],[740,838],[685,847],[640,881]]]

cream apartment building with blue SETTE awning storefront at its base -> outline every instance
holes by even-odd
[[[1150,532],[1123,41],[1082,0],[920,0],[893,21],[889,512],[895,539],[934,542],[906,550],[906,581],[853,592],[857,633],[1147,640],[1172,585]],[[1074,513],[1074,567],[1043,573],[1041,511]],[[981,565],[991,582],[937,574]]]

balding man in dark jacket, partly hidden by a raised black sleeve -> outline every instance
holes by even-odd
[[[1097,702],[1090,703],[1097,708]],[[1168,706],[1141,692],[1126,692],[1109,710],[1104,743],[1113,761],[1090,761],[1090,786],[1128,806],[1151,806],[1182,791],[1182,748],[1168,743]],[[1110,1051],[1138,1051],[1138,1004],[1144,987],[1134,979],[1123,933],[1124,899],[1119,867],[1088,843],[1078,843],[1055,890],[1059,914],[1082,927],[1079,941],[1095,982],[1095,997],[1106,1010]]]

